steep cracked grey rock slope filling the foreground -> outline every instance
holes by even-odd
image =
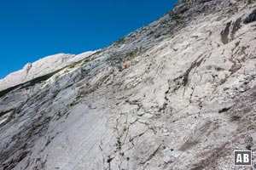
[[[180,0],[75,65],[0,92],[0,169],[248,169],[234,150],[252,150],[256,167],[255,77],[256,2]]]

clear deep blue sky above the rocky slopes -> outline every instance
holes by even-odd
[[[104,48],[172,9],[176,0],[0,1],[0,78],[57,53]]]

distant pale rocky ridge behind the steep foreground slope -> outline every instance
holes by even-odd
[[[37,77],[42,77],[67,65],[72,65],[94,53],[94,51],[89,51],[78,56],[74,54],[55,54],[39,59],[34,63],[28,63],[22,70],[15,71],[0,80],[0,90],[13,87],[22,82],[28,82]]]

